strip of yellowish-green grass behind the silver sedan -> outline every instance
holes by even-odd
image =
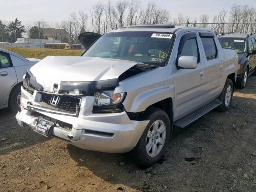
[[[0,47],[26,58],[43,59],[48,55],[51,56],[80,56],[82,50],[63,50],[63,49],[38,49],[38,48],[19,48],[19,47]]]

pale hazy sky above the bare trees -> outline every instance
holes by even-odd
[[[108,0],[100,0],[106,3]],[[18,18],[21,21],[46,21],[66,20],[71,12],[84,10],[89,14],[92,5],[97,0],[0,0],[0,20],[10,21]],[[112,0],[113,5],[115,0]],[[141,0],[142,7],[146,7],[148,0]],[[155,0],[162,8],[170,10],[171,17],[177,14],[190,15],[199,18],[206,13],[211,18],[220,10],[230,10],[232,4],[256,7],[256,0]]]

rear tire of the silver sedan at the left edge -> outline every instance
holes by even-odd
[[[21,85],[16,85],[9,96],[9,106],[13,112],[20,111],[20,88]]]

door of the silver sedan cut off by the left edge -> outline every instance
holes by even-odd
[[[10,55],[0,51],[0,106],[8,103],[8,92],[17,81]]]

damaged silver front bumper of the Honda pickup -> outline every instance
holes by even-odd
[[[70,128],[61,126],[62,124],[54,124],[51,136],[82,149],[111,153],[128,152],[136,146],[149,122],[148,120],[130,120],[126,112],[112,114],[82,114],[80,112],[78,117],[56,114],[29,106],[32,103],[32,97],[32,94],[22,89],[22,111],[16,115],[18,124],[28,125],[34,129],[38,119],[36,113],[50,117],[57,122],[71,124]],[[86,97],[83,100],[86,100]]]

